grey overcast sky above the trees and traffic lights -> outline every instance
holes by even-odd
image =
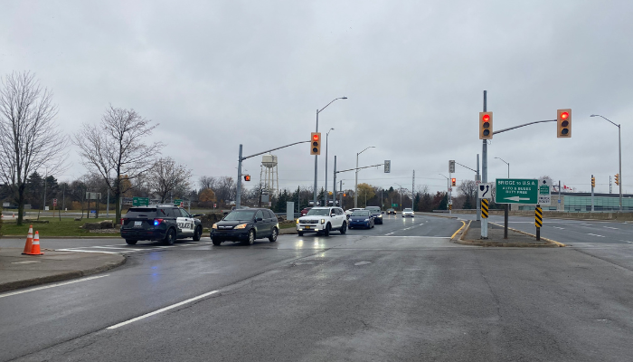
[[[160,123],[149,141],[199,176],[237,176],[244,155],[329,135],[331,171],[392,160],[359,183],[444,190],[449,159],[476,168],[483,90],[494,129],[572,109],[555,123],[498,134],[488,179],[551,176],[609,192],[622,125],[624,192],[633,192],[631,1],[28,1],[0,0],[0,75],[33,71],[72,134],[109,104]],[[325,148],[318,186],[325,176]],[[274,152],[282,187],[312,186],[307,144]],[[260,157],[244,162],[260,178]],[[71,149],[60,179],[86,172]],[[345,188],[354,173],[339,174]],[[457,166],[458,183],[475,173]],[[247,184],[248,185],[248,184]],[[613,192],[618,187],[613,185]]]

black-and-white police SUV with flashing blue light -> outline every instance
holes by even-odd
[[[130,245],[139,240],[162,241],[171,245],[176,239],[200,240],[203,224],[175,205],[148,205],[130,207],[121,218],[121,237]]]

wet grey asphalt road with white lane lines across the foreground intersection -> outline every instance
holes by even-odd
[[[98,279],[0,294],[0,359],[630,359],[626,264],[450,243],[461,225],[391,216],[329,238],[140,244]]]

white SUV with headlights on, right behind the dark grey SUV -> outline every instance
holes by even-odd
[[[347,217],[340,207],[313,207],[306,216],[297,219],[297,233],[323,233],[330,235],[330,231],[347,232]]]

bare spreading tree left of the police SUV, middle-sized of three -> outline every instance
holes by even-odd
[[[154,166],[163,146],[161,142],[143,142],[158,127],[158,123],[151,122],[135,110],[110,105],[98,125],[84,123],[72,139],[80,148],[83,165],[101,176],[114,196],[117,220],[121,217],[121,195]],[[123,182],[123,178],[129,182]]]

